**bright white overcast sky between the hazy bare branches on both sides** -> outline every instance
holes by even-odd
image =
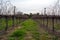
[[[40,12],[45,7],[51,7],[57,0],[11,0],[20,11],[25,13]]]

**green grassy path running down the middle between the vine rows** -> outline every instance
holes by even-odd
[[[21,28],[13,32],[8,40],[40,40],[37,23],[32,19],[22,22]]]

